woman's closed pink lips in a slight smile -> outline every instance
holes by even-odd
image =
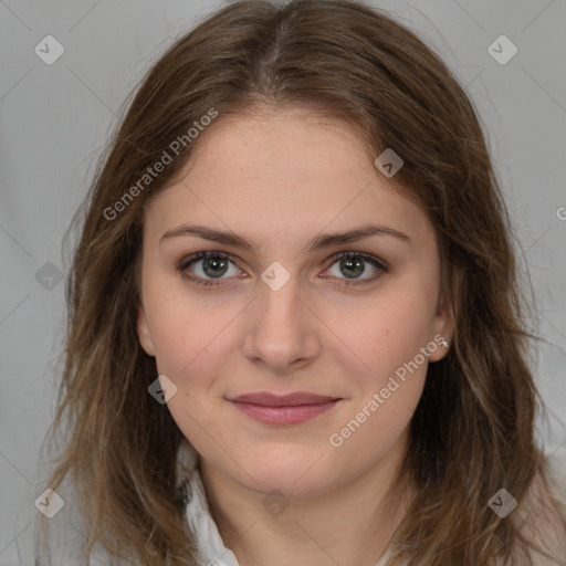
[[[340,399],[307,392],[276,396],[248,394],[229,399],[252,419],[266,424],[297,424],[332,409]]]

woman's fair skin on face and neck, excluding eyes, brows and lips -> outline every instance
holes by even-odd
[[[343,122],[259,107],[220,116],[197,142],[179,180],[146,208],[140,343],[177,386],[168,408],[200,454],[211,513],[241,565],[373,566],[413,495],[406,485],[386,511],[428,364],[448,350],[437,347],[342,446],[328,439],[436,335],[450,342],[434,230]],[[256,249],[163,238],[189,223]],[[367,224],[408,239],[305,250],[322,233]],[[187,277],[219,282],[202,260],[185,276],[177,270],[203,250],[234,262],[219,285]],[[364,262],[354,281],[365,283],[346,286],[350,272],[333,259],[344,251],[374,255],[387,271]],[[290,275],[279,291],[261,279],[274,261]],[[270,426],[227,400],[254,391],[342,400],[306,422]],[[277,516],[262,505],[274,489],[289,503]]]

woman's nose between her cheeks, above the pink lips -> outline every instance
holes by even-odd
[[[247,317],[244,355],[273,374],[285,375],[311,364],[321,352],[321,322],[298,296],[297,277],[274,291],[258,283]]]

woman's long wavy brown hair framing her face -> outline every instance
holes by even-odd
[[[394,536],[395,557],[443,566],[528,557],[533,543],[513,515],[488,506],[502,486],[521,501],[541,463],[526,301],[480,119],[441,59],[361,3],[240,1],[178,39],[128,104],[81,218],[52,424],[70,432],[49,485],[73,481],[85,552],[99,542],[142,565],[196,564],[177,486],[184,436],[147,392],[157,368],[136,332],[144,208],[180,172],[195,145],[187,133],[202,116],[266,105],[346,122],[371,159],[392,148],[405,161],[396,186],[438,237],[454,336],[430,365],[410,422],[401,472],[418,494]],[[140,188],[174,140],[178,155]]]

